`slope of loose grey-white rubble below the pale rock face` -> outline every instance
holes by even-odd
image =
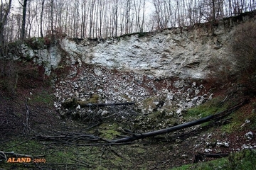
[[[55,108],[63,115],[70,113],[63,109],[63,102],[73,98],[89,103],[135,102],[136,110],[144,114],[165,110],[181,115],[213,96],[201,80],[159,79],[88,64],[73,65],[57,82]],[[96,100],[90,101],[95,96]],[[85,115],[86,111],[74,109],[72,114]]]

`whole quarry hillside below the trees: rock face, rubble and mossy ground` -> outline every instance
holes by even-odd
[[[235,35],[241,28],[249,32],[253,24],[249,13],[242,20],[220,21],[214,29],[205,23],[107,40],[55,35],[50,46],[40,38],[12,43],[16,60],[1,60],[0,167],[253,169],[254,60],[241,62],[232,50],[240,38]],[[245,100],[221,119],[143,140],[111,142],[182,125]],[[250,151],[239,152],[245,149]],[[4,157],[17,156],[12,152],[46,163],[7,163]],[[228,154],[228,159],[193,164],[216,159],[206,154]]]

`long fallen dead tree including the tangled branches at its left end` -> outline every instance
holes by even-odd
[[[37,136],[40,140],[52,140],[55,141],[55,143],[65,143],[67,145],[78,145],[78,146],[100,146],[100,145],[117,145],[117,144],[132,144],[134,140],[144,139],[146,137],[154,137],[156,135],[162,135],[169,132],[174,132],[176,130],[181,130],[184,128],[190,128],[195,125],[200,125],[202,123],[206,123],[209,121],[216,121],[220,120],[222,118],[225,118],[225,116],[229,115],[230,113],[233,113],[233,111],[238,110],[241,106],[243,106],[245,103],[247,103],[247,100],[242,101],[238,103],[237,105],[233,106],[232,108],[229,108],[225,111],[215,113],[214,115],[208,115],[205,118],[200,118],[198,120],[194,120],[188,123],[184,123],[182,125],[176,125],[171,128],[161,129],[161,130],[155,130],[152,132],[129,132],[130,130],[127,130],[126,132],[129,133],[132,136],[123,137],[117,140],[105,140],[101,137],[97,137],[95,135],[88,135],[88,134],[82,134],[82,133],[76,133],[76,132],[58,132],[60,135],[39,135]],[[126,129],[124,129],[125,131]],[[94,144],[78,144],[78,141],[89,141],[89,142],[97,142]],[[74,143],[76,142],[76,143]]]

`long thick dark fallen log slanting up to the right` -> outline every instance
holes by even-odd
[[[247,102],[248,102],[247,100],[242,101],[242,102],[238,103],[237,105],[233,106],[232,108],[229,108],[225,111],[222,111],[220,113],[216,113],[214,115],[208,115],[205,118],[200,118],[198,120],[194,120],[192,122],[184,123],[182,125],[176,125],[176,126],[171,127],[171,128],[155,130],[153,132],[133,134],[132,136],[129,136],[129,137],[124,137],[124,138],[117,139],[117,140],[110,140],[110,142],[111,143],[132,142],[134,140],[140,140],[140,139],[144,139],[146,137],[154,137],[156,135],[162,135],[162,134],[165,134],[165,133],[174,132],[176,130],[181,130],[181,129],[184,129],[184,128],[190,128],[194,125],[200,125],[202,123],[206,123],[206,122],[209,122],[211,120],[219,120],[219,119],[224,118],[225,116],[229,115],[230,113],[233,113],[233,111],[238,110],[238,108],[240,108],[241,106],[243,106]]]

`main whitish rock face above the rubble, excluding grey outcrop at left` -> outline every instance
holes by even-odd
[[[231,69],[234,64],[230,62],[229,52],[231,33],[222,29],[216,28],[216,36],[203,28],[191,31],[171,28],[161,33],[126,35],[97,43],[87,40],[75,43],[65,39],[60,46],[70,56],[87,64],[154,77],[204,79],[216,71],[214,62],[225,62]]]

